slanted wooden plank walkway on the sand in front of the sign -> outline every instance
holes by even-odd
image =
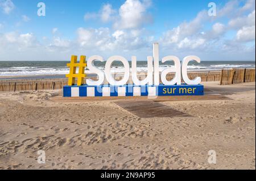
[[[189,117],[187,113],[177,111],[174,108],[153,101],[117,101],[114,102],[119,107],[133,113],[142,118],[147,117]]]

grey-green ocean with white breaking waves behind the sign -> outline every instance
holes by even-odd
[[[60,75],[68,74],[68,61],[0,61],[0,76],[12,75]],[[104,69],[106,62],[96,61],[95,65]],[[131,67],[131,62],[129,62]],[[172,62],[162,64],[159,62],[159,69],[162,71],[173,66]],[[188,69],[198,70],[221,70],[232,68],[255,68],[255,61],[201,61],[189,62]],[[115,61],[112,64],[112,71],[123,71],[121,62]],[[137,71],[147,71],[147,61],[137,61]],[[88,73],[88,70],[85,70]]]

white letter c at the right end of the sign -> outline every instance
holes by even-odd
[[[187,67],[188,67],[188,62],[191,60],[194,60],[197,63],[200,63],[200,58],[197,56],[187,56],[183,58],[183,61],[181,63],[182,78],[183,78],[183,81],[188,85],[197,85],[201,82],[201,77],[196,77],[193,80],[188,78]]]

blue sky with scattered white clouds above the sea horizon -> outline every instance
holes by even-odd
[[[105,59],[118,54],[146,60],[152,43],[160,56],[255,61],[255,0],[211,1],[0,0],[0,61],[69,60],[71,54]]]

